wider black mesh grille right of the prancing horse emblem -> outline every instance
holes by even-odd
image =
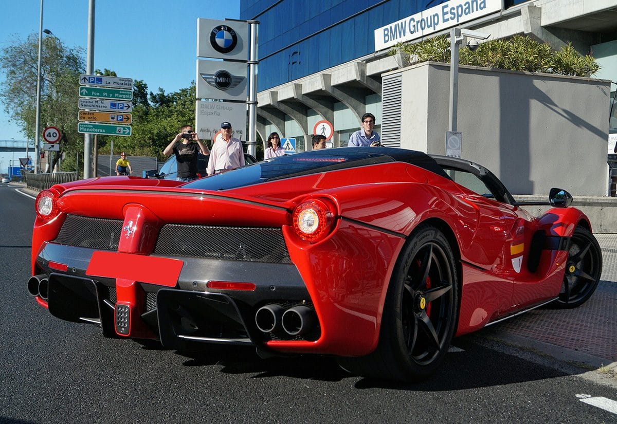
[[[291,263],[283,232],[279,228],[167,224],[160,229],[154,253],[161,256]]]

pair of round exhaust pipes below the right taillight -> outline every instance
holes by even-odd
[[[309,333],[315,327],[315,312],[307,306],[294,306],[287,310],[278,304],[262,306],[255,314],[255,324],[264,333],[283,331],[290,336]]]

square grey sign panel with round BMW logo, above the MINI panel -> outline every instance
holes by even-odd
[[[197,19],[197,57],[248,60],[249,44],[245,21]]]

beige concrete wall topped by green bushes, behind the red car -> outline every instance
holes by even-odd
[[[400,147],[444,155],[449,65],[425,62],[383,77],[396,73],[403,78]],[[609,87],[607,80],[462,66],[462,157],[491,169],[513,194],[561,187],[605,195]]]

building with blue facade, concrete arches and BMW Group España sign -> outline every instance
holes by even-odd
[[[528,35],[554,49],[571,42],[600,64],[594,78],[617,80],[617,0],[241,0],[240,18],[260,23],[257,132],[295,137],[297,151],[311,149],[324,120],[333,147],[347,145],[366,112],[381,133],[381,75],[401,66],[391,47],[454,27],[490,39]]]

